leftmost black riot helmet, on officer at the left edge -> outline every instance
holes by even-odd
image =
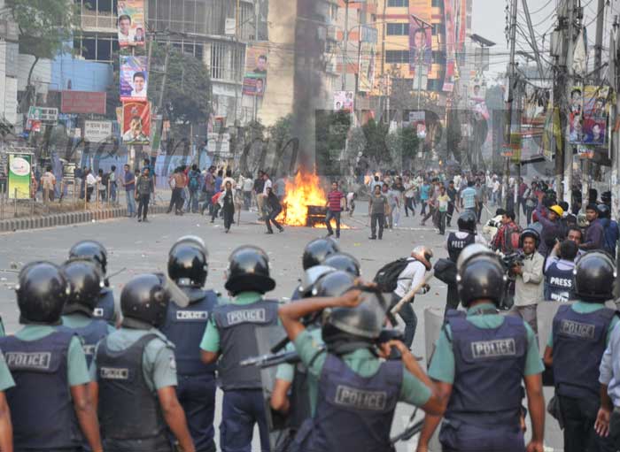
[[[62,270],[50,262],[33,262],[19,272],[15,287],[19,323],[60,325],[70,287]]]

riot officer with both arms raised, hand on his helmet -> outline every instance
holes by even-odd
[[[441,414],[441,402],[407,346],[389,341],[379,350],[387,303],[357,289],[329,298],[312,298],[281,306],[279,315],[301,362],[319,381],[314,418],[306,419],[295,450],[391,450],[390,430],[396,403],[407,402]],[[300,321],[330,309],[316,343]],[[402,361],[382,361],[391,348]]]

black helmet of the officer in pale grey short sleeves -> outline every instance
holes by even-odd
[[[166,319],[170,294],[164,275],[142,274],[130,280],[120,293],[120,310],[125,318],[151,326],[161,326]],[[130,320],[129,320],[130,321]]]

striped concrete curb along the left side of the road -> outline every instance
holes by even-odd
[[[166,213],[165,205],[156,205],[149,208],[149,214],[159,215]],[[92,220],[101,221],[112,218],[127,217],[126,207],[114,207],[103,211],[73,211],[58,213],[46,217],[9,218],[0,221],[0,233],[41,229],[54,226],[71,226],[80,223],[90,223]]]

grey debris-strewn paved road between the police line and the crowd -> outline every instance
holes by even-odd
[[[364,203],[359,203],[358,212],[366,211]],[[135,220],[117,219],[88,225],[64,226],[47,230],[25,231],[13,234],[0,234],[0,269],[10,269],[33,260],[62,262],[68,249],[75,241],[96,239],[102,241],[109,251],[108,272],[114,273],[123,268],[112,280],[115,295],[131,277],[141,272],[163,272],[167,265],[167,251],[176,239],[186,234],[202,237],[209,249],[209,277],[207,286],[225,293],[224,272],[230,252],[244,244],[253,244],[265,249],[271,259],[272,274],[277,282],[271,295],[288,297],[297,286],[301,274],[301,253],[306,242],[325,234],[321,229],[305,227],[286,228],[283,234],[266,235],[265,226],[256,223],[256,215],[244,212],[241,224],[233,226],[230,234],[224,234],[221,222],[210,224],[198,215],[183,217],[159,215],[151,222],[139,224]],[[363,276],[372,279],[376,271],[385,263],[398,257],[406,257],[415,245],[429,245],[435,257],[445,257],[443,238],[431,227],[419,226],[420,217],[401,218],[398,228],[386,231],[383,241],[368,241],[368,218],[356,214],[345,223],[352,229],[343,230],[340,246],[360,259]],[[9,333],[19,328],[19,312],[14,299],[12,285],[16,280],[12,272],[0,272],[0,313]],[[423,310],[427,307],[443,307],[446,300],[446,286],[434,281],[429,294],[417,296],[415,311],[419,318],[413,350],[415,355],[424,356]],[[219,405],[221,406],[221,405]],[[412,410],[399,406],[393,423],[393,431],[407,424]],[[220,410],[216,425],[220,422]],[[254,441],[258,450],[259,446]],[[399,444],[398,450],[411,451],[415,442]]]

